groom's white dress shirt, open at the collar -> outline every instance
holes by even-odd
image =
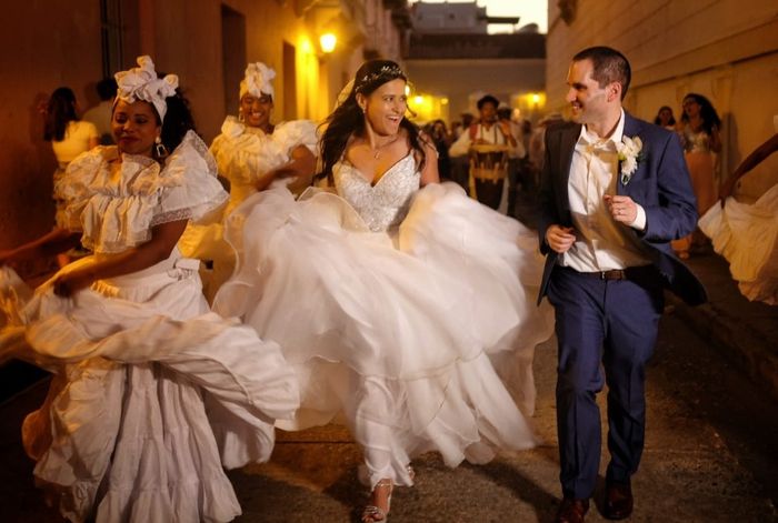
[[[616,195],[619,155],[616,144],[624,135],[625,114],[609,138],[600,138],[581,127],[572,153],[568,198],[576,228],[576,242],[560,257],[559,263],[579,272],[599,272],[628,266],[647,265],[650,259],[639,240],[627,229],[642,230],[646,211],[638,207],[638,215],[626,225],[610,215],[604,195]]]

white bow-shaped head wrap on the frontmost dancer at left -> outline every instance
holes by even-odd
[[[119,86],[117,100],[123,100],[127,103],[137,100],[149,102],[157,110],[159,119],[164,120],[164,113],[168,112],[164,99],[176,94],[178,77],[168,74],[164,78],[157,78],[154,62],[148,56],[138,57],[138,66],[129,71],[120,71],[114,74]]]

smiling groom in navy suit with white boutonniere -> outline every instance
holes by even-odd
[[[600,463],[596,394],[608,384],[604,515],[632,511],[646,425],[645,366],[664,288],[690,304],[706,293],[672,254],[697,211],[676,135],[621,108],[630,67],[618,51],[586,49],[568,72],[575,123],[549,128],[538,232],[546,258],[539,300],[555,306],[557,429],[563,500],[557,522],[582,522]],[[600,366],[601,365],[601,366]],[[605,371],[605,374],[604,374]]]

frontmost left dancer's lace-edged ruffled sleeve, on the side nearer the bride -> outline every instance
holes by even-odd
[[[217,179],[213,157],[193,131],[164,162],[160,182],[163,188],[151,227],[186,219],[200,221],[229,199]]]

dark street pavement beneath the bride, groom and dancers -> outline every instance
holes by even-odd
[[[536,352],[533,423],[543,443],[453,471],[435,454],[415,460],[417,484],[396,490],[390,521],[552,520],[560,496],[555,348],[551,340]],[[61,521],[34,489],[19,441],[21,419],[43,392],[38,385],[2,405],[3,521]],[[629,521],[778,521],[778,408],[674,314],[662,320],[648,394],[646,452]],[[237,521],[356,522],[367,500],[357,480],[359,462],[358,447],[338,425],[280,434],[270,463],[230,473],[243,507]],[[606,520],[592,506],[587,521]]]

